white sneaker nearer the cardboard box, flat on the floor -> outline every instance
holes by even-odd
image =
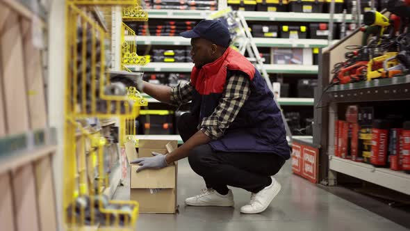
[[[231,189],[227,195],[221,195],[213,189],[202,189],[202,193],[185,199],[186,205],[192,206],[233,206],[233,194]]]

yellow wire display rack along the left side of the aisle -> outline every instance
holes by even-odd
[[[108,200],[102,189],[108,185],[104,173],[106,138],[90,132],[83,118],[119,118],[121,132],[135,134],[135,118],[140,106],[147,105],[136,88],[111,83],[105,42],[110,35],[83,6],[128,6],[136,1],[76,0],[66,2],[65,136],[63,218],[66,230],[133,230],[138,218],[138,202]],[[126,29],[135,35],[132,30]],[[123,32],[124,32],[123,30]],[[124,35],[122,35],[124,37]],[[135,41],[129,51],[136,54]],[[137,56],[138,57],[138,56]],[[139,63],[147,58],[138,57]],[[131,120],[131,118],[133,118]],[[122,136],[124,140],[126,136]],[[94,177],[95,168],[98,176]]]

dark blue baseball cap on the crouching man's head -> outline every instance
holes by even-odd
[[[202,20],[194,29],[179,33],[183,38],[204,38],[222,47],[229,47],[231,35],[220,20]]]

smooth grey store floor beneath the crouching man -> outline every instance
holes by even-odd
[[[186,206],[183,200],[199,193],[204,183],[186,159],[179,161],[178,171],[179,214],[140,214],[136,230],[407,230],[293,175],[290,161],[276,177],[282,185],[279,195],[265,212],[252,215],[240,214],[239,209],[249,200],[250,193],[236,188],[234,208]],[[129,184],[119,187],[114,197],[128,200]]]

